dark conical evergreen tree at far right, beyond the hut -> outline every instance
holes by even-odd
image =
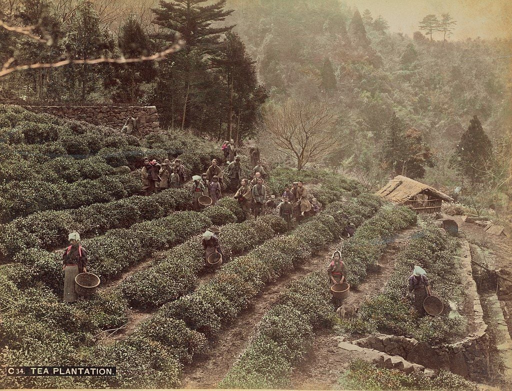
[[[485,134],[477,116],[470,121],[455,150],[454,163],[471,184],[483,181],[483,172],[492,158],[493,145]]]

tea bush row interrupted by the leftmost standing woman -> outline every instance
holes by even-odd
[[[211,215],[215,214],[216,209],[224,215],[226,208],[212,206],[210,209]],[[230,221],[234,219],[234,213],[231,213]],[[83,247],[89,251],[88,271],[102,279],[113,278],[126,268],[142,262],[153,252],[183,243],[211,225],[211,220],[204,213],[183,211],[136,223],[130,228],[109,230],[104,235],[82,241]],[[11,278],[19,286],[27,287],[40,281],[56,292],[61,291],[61,252],[29,248],[17,253],[14,261],[23,265],[12,268]]]

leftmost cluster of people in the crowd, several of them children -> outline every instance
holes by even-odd
[[[160,164],[156,159],[144,158],[140,176],[145,196],[169,187],[181,187],[186,181],[185,167],[180,159],[175,159],[174,163],[164,159]]]

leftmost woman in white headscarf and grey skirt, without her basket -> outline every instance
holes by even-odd
[[[62,270],[64,271],[64,301],[72,303],[78,299],[75,292],[75,277],[79,273],[87,273],[87,251],[79,244],[78,232],[71,232],[68,240],[71,246],[62,254]]]

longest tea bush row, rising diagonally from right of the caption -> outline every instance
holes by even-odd
[[[364,198],[371,200],[373,205],[380,203],[373,196]],[[358,200],[347,205],[353,203],[357,204]],[[363,209],[375,213],[373,207],[361,206],[361,213]],[[206,338],[215,335],[221,324],[234,319],[247,308],[251,299],[269,281],[294,265],[307,262],[314,251],[337,238],[343,228],[343,222],[321,214],[288,235],[267,240],[247,255],[235,258],[223,266],[214,279],[193,293],[163,305],[156,316],[141,324],[133,338],[94,353],[94,356],[102,357],[98,362],[114,360],[119,371],[116,379],[95,379],[98,381],[95,386],[122,387],[130,381],[142,387],[179,385],[181,366],[204,349]],[[142,345],[147,347],[139,355],[137,352]],[[151,358],[148,354],[150,346],[163,360]],[[143,372],[138,370],[141,367]],[[169,372],[165,376],[162,371]]]

